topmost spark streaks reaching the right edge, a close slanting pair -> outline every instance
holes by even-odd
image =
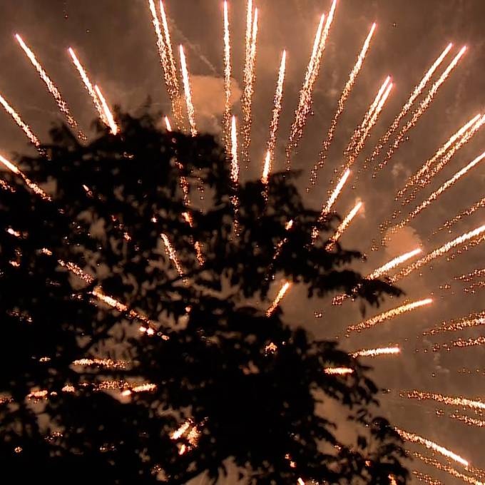
[[[408,196],[408,198],[405,200],[404,203],[409,203],[412,199],[415,198],[415,195],[417,193],[418,188],[416,185],[419,185],[420,188],[424,188],[426,185],[428,185],[432,177],[436,175],[442,168],[444,168],[444,165],[451,160],[453,155],[456,153],[459,148],[464,146],[465,143],[467,143],[472,136],[476,133],[476,131],[481,128],[481,126],[485,123],[485,116],[481,117],[481,115],[476,115],[474,118],[472,118],[468,123],[466,123],[464,126],[462,126],[459,131],[454,133],[453,136],[449,138],[449,140],[441,146],[434,156],[427,160],[426,163],[420,168],[417,173],[415,173],[412,177],[410,177],[406,185],[404,185],[404,188],[402,190],[399,190],[399,193],[397,193],[397,198],[400,198],[404,195],[404,193],[407,192],[407,190],[410,190],[411,188],[414,187],[414,190],[412,191],[412,194]],[[471,131],[469,131],[469,128],[471,128]],[[458,141],[458,143],[456,143]],[[449,150],[451,148],[451,150]],[[448,151],[449,150],[449,151]],[[446,153],[448,151],[448,153]],[[445,155],[446,153],[446,155]],[[434,163],[439,160],[441,157],[443,157],[443,160],[436,165],[436,167],[433,170],[430,170]],[[429,173],[428,173],[429,172]],[[403,203],[403,205],[404,205]]]

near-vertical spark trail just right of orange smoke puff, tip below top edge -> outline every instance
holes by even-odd
[[[255,9],[252,19],[252,34],[249,50],[249,63],[247,72],[245,71],[244,90],[242,92],[242,126],[241,126],[241,158],[247,168],[250,162],[249,148],[251,144],[252,126],[252,97],[254,95],[255,65],[256,65],[256,46],[257,46],[257,9]]]

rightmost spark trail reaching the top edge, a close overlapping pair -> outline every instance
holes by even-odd
[[[312,56],[308,63],[307,72],[305,74],[305,81],[300,90],[300,100],[298,101],[298,107],[295,111],[295,120],[292,123],[290,129],[290,138],[288,140],[286,148],[287,169],[290,169],[291,155],[295,152],[298,146],[300,138],[302,138],[303,128],[307,121],[307,116],[310,113],[312,107],[312,93],[317,81],[318,74],[320,72],[320,65],[322,63],[322,56],[327,46],[327,39],[330,34],[330,27],[335,16],[335,9],[337,7],[337,0],[332,1],[330,12],[325,22],[325,27],[322,31],[325,15],[322,15],[320,19],[320,25],[318,26],[317,35],[315,36],[315,44],[313,45]]]

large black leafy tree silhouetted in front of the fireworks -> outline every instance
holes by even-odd
[[[335,217],[305,207],[295,173],[272,175],[266,200],[260,181],[231,183],[212,137],[157,120],[120,112],[121,133],[98,126],[89,143],[54,128],[19,163],[51,200],[1,174],[1,473],[183,484],[235,466],[258,484],[406,483],[367,368],[280,308],[266,315],[283,279],[371,305],[399,290],[348,270],[359,252],[325,250]]]

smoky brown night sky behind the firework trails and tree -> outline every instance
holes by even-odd
[[[233,0],[230,3],[233,76],[240,86],[245,1]],[[174,44],[186,46],[198,124],[203,131],[218,136],[223,113],[222,2],[166,0],[165,4]],[[283,48],[287,49],[288,55],[287,80],[275,168],[284,168],[285,142],[313,36],[320,15],[330,7],[327,0],[257,0],[256,4],[260,9],[260,37],[253,105],[252,164],[248,170],[242,170],[244,179],[255,178],[260,173]],[[75,48],[93,81],[100,84],[108,103],[136,113],[150,99],[155,110],[170,115],[146,0],[0,0],[0,6],[0,93],[19,111],[41,141],[48,140],[49,128],[52,123],[61,120],[61,115],[44,83],[16,43],[16,33],[21,34],[43,63],[85,133],[90,133],[96,111],[68,56],[69,46]],[[315,208],[325,200],[332,170],[342,163],[345,144],[362,121],[384,78],[391,75],[396,86],[364,149],[364,155],[372,151],[379,136],[392,123],[424,71],[446,44],[453,42],[454,50],[444,65],[462,45],[469,47],[431,108],[422,116],[417,127],[409,132],[409,141],[399,148],[389,166],[376,179],[371,177],[372,170],[364,172],[354,187],[347,189],[339,200],[336,209],[342,214],[352,208],[356,199],[364,201],[364,212],[342,238],[345,247],[362,250],[368,255],[367,262],[359,267],[362,272],[369,272],[394,255],[412,250],[417,245],[422,245],[424,252],[429,252],[447,240],[484,224],[485,210],[481,209],[454,226],[451,234],[441,231],[432,236],[445,220],[484,197],[485,166],[479,165],[413,220],[385,250],[371,250],[372,238],[379,237],[379,223],[394,210],[394,194],[407,176],[432,156],[452,133],[484,109],[484,19],[483,0],[339,0],[320,77],[315,85],[313,113],[298,154],[293,159],[293,168],[302,170],[302,190],[306,187],[310,168],[317,160],[349,71],[374,21],[377,22],[377,32],[339,121],[325,170],[320,174],[317,188],[307,198]],[[238,86],[235,86],[235,96],[237,94]],[[234,111],[240,114],[237,101]],[[479,132],[451,159],[417,202],[424,200],[459,168],[482,153],[484,147],[484,133]],[[16,153],[31,153],[32,150],[16,124],[1,111],[0,153],[15,158]],[[357,167],[362,160],[364,156],[357,160]],[[455,276],[485,267],[484,263],[483,246],[457,255],[449,262],[446,257],[436,260],[432,269],[425,267],[421,276],[415,273],[401,285],[410,300],[434,297],[432,307],[399,317],[344,342],[349,350],[399,344],[403,351],[401,356],[369,361],[375,367],[373,375],[378,384],[391,389],[390,394],[383,397],[384,412],[397,426],[432,439],[482,468],[485,468],[485,455],[481,446],[481,429],[449,419],[448,415],[454,411],[451,407],[407,401],[399,397],[399,391],[419,389],[470,399],[482,397],[484,350],[474,347],[433,352],[432,345],[458,337],[479,337],[483,332],[466,330],[433,338],[422,337],[422,332],[444,320],[484,310],[484,293],[480,290],[476,295],[467,295],[462,290],[463,285],[456,282],[451,290],[440,289],[440,285],[453,282]],[[287,297],[283,305],[286,319],[307,327],[317,337],[339,335],[344,339],[342,330],[361,318],[357,304],[347,302],[344,307],[332,308],[329,298],[313,300],[312,305],[308,305],[304,295],[304,292],[296,290]],[[367,309],[367,315],[376,315],[401,305],[402,301],[387,301],[382,310]],[[320,312],[322,317],[318,317]],[[416,352],[417,349],[419,352]],[[460,372],[464,367],[478,368],[480,372],[469,376]],[[445,411],[444,416],[436,413],[440,409]],[[470,413],[469,416],[479,418]],[[421,464],[413,464],[413,467],[440,477],[446,484],[455,483],[450,476],[440,475]],[[226,483],[234,482],[231,479]]]

